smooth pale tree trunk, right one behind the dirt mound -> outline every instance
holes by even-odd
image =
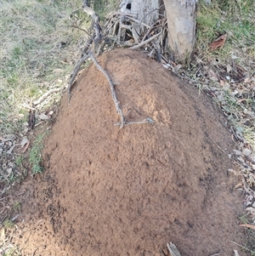
[[[167,13],[168,43],[175,60],[189,57],[195,44],[195,0],[164,0]]]

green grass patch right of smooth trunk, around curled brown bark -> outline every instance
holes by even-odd
[[[196,49],[203,60],[219,59],[231,63],[235,55],[237,64],[247,65],[255,57],[255,1],[212,1],[199,3],[197,12]],[[253,12],[253,14],[252,14]],[[208,44],[227,33],[224,48],[210,52]],[[249,66],[249,65],[247,65]]]

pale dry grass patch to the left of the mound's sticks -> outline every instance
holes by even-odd
[[[72,4],[54,1],[1,1],[2,134],[17,133],[26,121],[27,108],[40,95],[65,86],[76,60],[79,31],[68,20]],[[64,77],[64,79],[63,79]]]

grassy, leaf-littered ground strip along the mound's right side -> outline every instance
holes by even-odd
[[[197,13],[197,42],[190,77],[207,89],[226,117],[233,133],[236,174],[246,192],[247,207],[255,190],[255,1],[217,0],[211,6],[200,3]],[[210,51],[208,44],[227,34],[223,48]],[[251,194],[250,194],[251,193]],[[246,222],[255,225],[247,211]],[[246,229],[247,255],[255,255],[254,231]]]

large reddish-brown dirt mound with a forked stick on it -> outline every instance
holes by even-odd
[[[99,63],[132,110],[127,121],[155,123],[114,126],[107,80],[94,65],[83,71],[46,142],[46,171],[26,185],[24,253],[159,256],[173,242],[182,256],[233,255],[242,206],[224,119],[142,53],[119,49]]]

